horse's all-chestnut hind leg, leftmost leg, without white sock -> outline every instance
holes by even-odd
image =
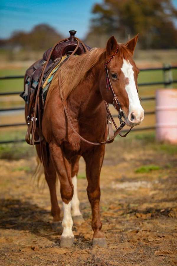
[[[47,154],[45,152],[45,149],[46,147],[43,146],[44,160],[45,160],[44,173],[50,191],[51,214],[53,216],[53,222],[59,222],[61,221],[61,218],[60,218],[60,207],[58,206],[58,200],[56,195],[56,171],[53,166],[51,158],[49,158],[49,165],[47,166]],[[37,150],[37,155],[41,160],[40,146],[36,145],[36,150]],[[52,225],[53,229],[55,230],[59,229],[58,226],[56,223]]]

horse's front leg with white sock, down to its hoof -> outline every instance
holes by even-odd
[[[61,235],[60,246],[70,247],[74,241],[72,231],[73,220],[71,216],[71,200],[73,197],[73,184],[71,180],[71,164],[65,158],[61,147],[54,142],[49,144],[53,164],[60,179],[60,193],[63,201],[63,233]]]

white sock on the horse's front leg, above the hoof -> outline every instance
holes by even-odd
[[[71,216],[71,201],[66,204],[63,202],[63,233],[62,237],[74,237],[72,226],[73,226],[73,219]]]

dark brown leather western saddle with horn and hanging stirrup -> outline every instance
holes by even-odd
[[[74,52],[76,55],[81,55],[91,48],[82,42],[78,42],[75,38],[76,30],[70,30],[70,37],[56,43],[53,48],[49,48],[43,54],[42,59],[36,61],[30,68],[27,69],[24,76],[24,91],[20,96],[26,102],[25,116],[27,122],[26,142],[30,145],[39,144],[41,142],[41,130],[39,126],[42,121],[42,113],[44,101],[47,95],[50,83],[47,85],[45,93],[42,92],[42,85],[45,83],[47,77],[60,63],[63,56],[67,60],[69,55]],[[40,87],[39,87],[40,86]],[[39,92],[39,93],[38,93]],[[39,94],[39,95],[38,95]],[[36,96],[39,98],[38,105],[36,105]],[[34,127],[35,123],[35,127]],[[35,130],[34,130],[35,128]],[[31,136],[33,135],[33,140]]]

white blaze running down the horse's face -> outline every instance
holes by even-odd
[[[121,70],[124,73],[125,78],[128,78],[129,80],[129,82],[127,82],[127,84],[125,85],[125,90],[127,91],[129,99],[129,114],[136,112],[138,118],[138,116],[140,117],[144,110],[142,109],[142,106],[140,104],[140,99],[138,97],[135,85],[133,66],[130,64],[129,60],[123,59]]]

